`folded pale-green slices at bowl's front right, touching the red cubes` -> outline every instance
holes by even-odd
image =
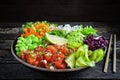
[[[89,59],[87,45],[80,46],[76,52],[72,53],[65,59],[65,62],[70,68],[95,66],[95,62]]]

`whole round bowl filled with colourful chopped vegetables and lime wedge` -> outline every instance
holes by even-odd
[[[95,67],[105,55],[108,41],[92,26],[27,22],[11,46],[23,64],[44,71],[75,71]]]

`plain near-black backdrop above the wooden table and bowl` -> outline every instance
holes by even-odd
[[[120,0],[0,0],[0,22],[119,22]]]

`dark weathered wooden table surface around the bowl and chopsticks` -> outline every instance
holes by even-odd
[[[112,72],[112,53],[110,54],[108,72],[103,72],[104,60],[93,68],[75,72],[44,72],[28,68],[18,62],[11,53],[11,44],[21,32],[22,23],[0,23],[0,79],[47,79],[47,80],[79,80],[79,79],[120,79],[120,24],[103,22],[57,22],[59,24],[92,25],[98,34],[110,38],[117,35],[117,72]],[[105,56],[106,57],[106,56]]]

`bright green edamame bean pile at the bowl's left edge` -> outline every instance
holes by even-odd
[[[16,54],[19,54],[21,51],[34,50],[38,43],[42,43],[42,38],[38,39],[34,34],[27,37],[19,37],[15,46]]]

